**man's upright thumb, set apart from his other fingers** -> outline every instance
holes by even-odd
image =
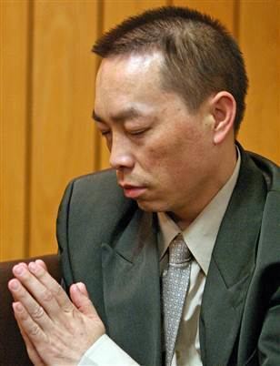
[[[70,287],[70,297],[75,307],[83,314],[90,318],[99,318],[92,301],[89,300],[84,283],[78,282],[73,284]]]

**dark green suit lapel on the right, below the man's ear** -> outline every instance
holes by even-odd
[[[205,283],[200,342],[207,366],[230,364],[246,290],[255,269],[265,192],[261,172],[242,152],[239,178],[215,242]]]

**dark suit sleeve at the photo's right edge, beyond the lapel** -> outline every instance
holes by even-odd
[[[280,365],[280,191],[267,198],[261,233],[260,261],[263,263],[260,291],[265,318],[258,341],[258,357],[262,366]]]

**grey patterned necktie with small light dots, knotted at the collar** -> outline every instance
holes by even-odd
[[[169,246],[169,266],[162,275],[165,366],[170,366],[191,274],[191,253],[179,234]]]

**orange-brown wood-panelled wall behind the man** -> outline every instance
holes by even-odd
[[[108,166],[91,120],[95,39],[128,15],[188,5],[219,18],[250,79],[239,140],[280,163],[278,0],[2,0],[0,260],[56,251],[66,183]]]

